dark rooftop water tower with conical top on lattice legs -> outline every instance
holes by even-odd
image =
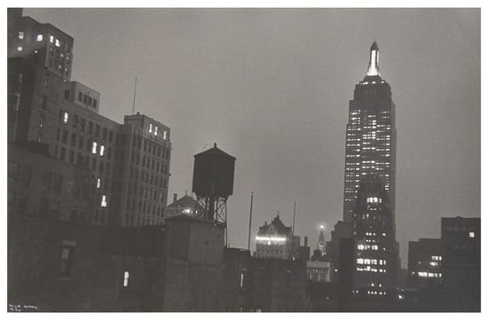
[[[227,224],[227,198],[232,195],[235,158],[214,147],[195,154],[192,191],[204,208],[198,218]]]

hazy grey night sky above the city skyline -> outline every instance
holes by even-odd
[[[169,203],[191,192],[193,154],[237,158],[231,246],[277,211],[312,249],[342,219],[348,104],[380,47],[397,105],[397,240],[440,238],[443,216],[480,216],[480,11],[476,9],[27,9],[75,38],[72,80],[100,113],[171,128]],[[254,248],[254,241],[251,248]]]

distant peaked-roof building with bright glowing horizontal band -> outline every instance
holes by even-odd
[[[298,249],[298,246],[292,246],[292,238],[292,227],[285,226],[277,214],[270,224],[264,222],[264,226],[259,227],[256,236],[256,258],[292,259],[292,252]],[[295,237],[294,245],[296,238],[298,237]]]

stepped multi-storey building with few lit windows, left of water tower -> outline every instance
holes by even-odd
[[[170,176],[169,127],[145,114],[126,115],[118,123],[98,113],[100,93],[71,81],[73,37],[21,10],[8,13],[9,144],[47,144],[51,156],[90,169],[96,196],[85,223],[161,224]]]

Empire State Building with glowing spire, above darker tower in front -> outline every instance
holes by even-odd
[[[356,85],[354,99],[349,102],[347,124],[343,221],[350,222],[361,181],[377,176],[384,183],[395,212],[395,162],[397,129],[395,104],[390,84],[380,75],[379,49],[370,48],[366,77]]]

